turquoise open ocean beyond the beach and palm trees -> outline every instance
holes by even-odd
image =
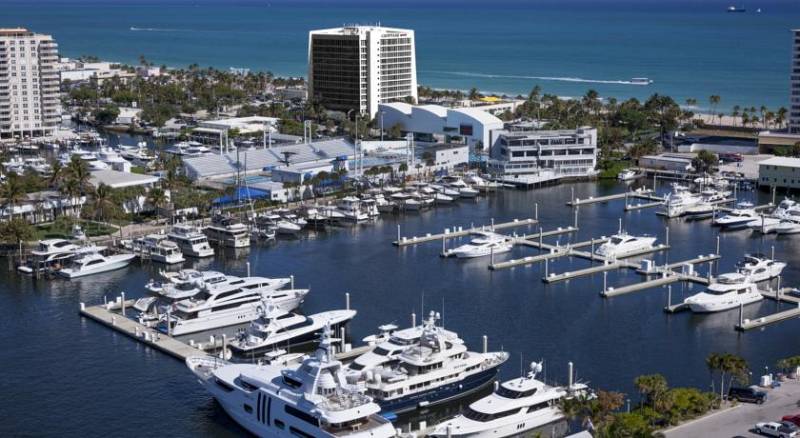
[[[419,82],[510,94],[788,106],[790,0],[3,0],[0,25],[55,35],[64,55],[249,67],[305,75],[308,31],[344,23],[412,28]],[[756,8],[763,12],[755,13]],[[624,84],[648,77],[650,86]],[[549,78],[549,79],[547,79]]]

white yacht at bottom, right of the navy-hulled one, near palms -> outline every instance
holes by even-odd
[[[534,431],[545,436],[543,429],[567,420],[559,407],[561,400],[591,394],[582,383],[547,385],[536,379],[542,369],[543,363],[531,363],[526,376],[498,384],[492,394],[437,425],[430,436],[489,438],[527,436]]]

